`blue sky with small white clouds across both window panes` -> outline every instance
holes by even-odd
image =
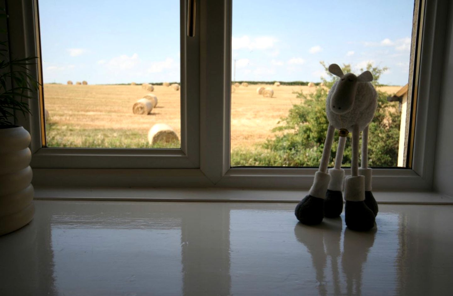
[[[408,82],[414,0],[233,0],[232,80],[320,81],[320,61]],[[45,83],[180,81],[179,1],[39,0]],[[236,73],[234,71],[236,60]]]

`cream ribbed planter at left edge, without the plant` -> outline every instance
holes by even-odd
[[[0,126],[0,235],[17,230],[33,219],[29,144],[30,134],[22,126]]]

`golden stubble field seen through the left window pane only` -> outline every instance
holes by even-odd
[[[67,146],[65,143],[71,143],[69,146],[83,147],[110,143],[105,145],[147,147],[149,128],[156,123],[168,124],[180,137],[180,92],[154,86],[159,105],[149,115],[134,115],[132,106],[147,93],[141,85],[71,87],[45,84],[45,106],[52,114],[46,131],[48,146]],[[132,139],[125,138],[132,135]]]

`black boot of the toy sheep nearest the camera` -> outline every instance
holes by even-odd
[[[344,207],[347,228],[356,231],[368,231],[374,227],[375,215],[365,201],[346,201]]]

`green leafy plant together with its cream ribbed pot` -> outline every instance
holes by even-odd
[[[31,114],[26,101],[38,82],[27,67],[34,64],[36,57],[10,59],[8,42],[0,42],[0,235],[23,227],[34,215],[30,134],[15,124],[19,115]]]

